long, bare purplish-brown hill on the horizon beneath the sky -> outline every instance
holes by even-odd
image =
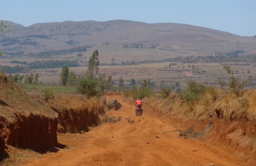
[[[105,56],[123,54],[120,56],[129,56],[128,60],[132,60],[131,55],[136,51],[140,51],[140,55],[154,52],[175,56],[256,51],[256,37],[242,37],[188,24],[150,24],[129,20],[64,21],[36,23],[29,27],[14,22],[10,24],[15,27],[15,35],[8,32],[1,35],[0,49],[9,55],[16,53],[12,56],[79,46],[100,49]]]

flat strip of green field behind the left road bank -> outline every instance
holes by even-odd
[[[45,84],[22,84],[15,83],[20,88],[22,88],[26,93],[30,92],[40,92],[41,90],[48,88],[53,92],[76,92],[75,86],[57,86],[57,85],[45,85]]]

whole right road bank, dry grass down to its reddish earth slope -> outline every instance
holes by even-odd
[[[239,102],[241,99],[248,99],[248,105]],[[222,96],[220,89],[214,89],[214,93],[206,92],[192,109],[176,93],[167,99],[150,96],[142,102],[148,114],[167,118],[186,129],[195,125],[194,131],[205,131],[205,139],[256,159],[256,90],[248,90],[238,98],[229,91]]]

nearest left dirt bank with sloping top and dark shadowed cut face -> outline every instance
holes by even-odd
[[[0,107],[0,137],[6,144],[36,151],[57,144],[57,114],[32,100],[3,72],[0,72]]]

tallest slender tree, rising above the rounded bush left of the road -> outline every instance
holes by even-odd
[[[94,72],[96,72],[96,74],[98,74],[99,64],[100,64],[98,56],[99,56],[99,52],[98,52],[98,50],[95,50],[93,52],[93,55],[91,55],[91,57],[89,58],[86,74],[90,78],[94,77]]]

